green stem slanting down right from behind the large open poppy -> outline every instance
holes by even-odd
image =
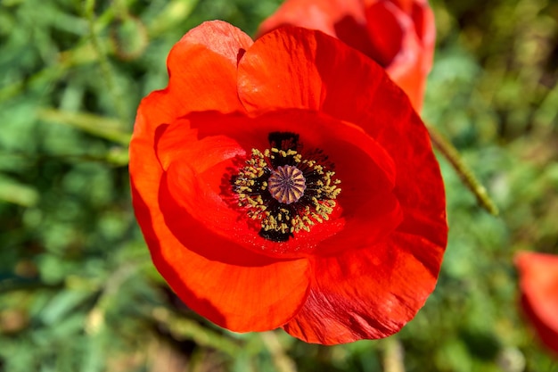
[[[496,204],[492,202],[492,199],[488,196],[487,189],[480,184],[479,180],[472,173],[472,170],[461,159],[455,146],[452,145],[445,136],[439,133],[436,128],[429,126],[428,131],[431,136],[432,145],[434,145],[434,147],[444,155],[447,161],[449,161],[452,167],[454,167],[455,172],[463,180],[464,185],[475,195],[480,205],[490,214],[497,216],[498,208]]]

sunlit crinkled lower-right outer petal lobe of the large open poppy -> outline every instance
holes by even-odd
[[[414,236],[394,233],[389,242],[335,257],[316,258],[308,300],[283,326],[308,343],[350,343],[392,335],[423,306],[436,285],[441,254],[418,242],[430,257],[405,247]]]

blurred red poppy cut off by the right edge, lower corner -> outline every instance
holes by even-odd
[[[558,352],[558,256],[520,252],[521,305],[540,339]]]

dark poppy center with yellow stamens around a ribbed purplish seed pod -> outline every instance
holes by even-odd
[[[268,139],[271,148],[252,149],[231,183],[238,205],[259,222],[259,235],[286,242],[329,219],[341,181],[321,150],[300,153],[299,135],[274,132]]]

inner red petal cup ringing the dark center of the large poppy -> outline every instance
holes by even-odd
[[[299,134],[304,149],[323,150],[342,190],[329,220],[284,243],[258,235],[259,225],[237,207],[230,182],[246,153],[269,148],[267,136],[277,131]],[[255,252],[284,258],[358,249],[382,240],[401,220],[392,194],[397,176],[390,156],[360,128],[319,112],[283,110],[252,117],[195,113],[165,130],[158,156],[168,172],[168,192],[185,213],[207,227],[208,234]],[[218,255],[220,249],[204,246],[203,252]]]

